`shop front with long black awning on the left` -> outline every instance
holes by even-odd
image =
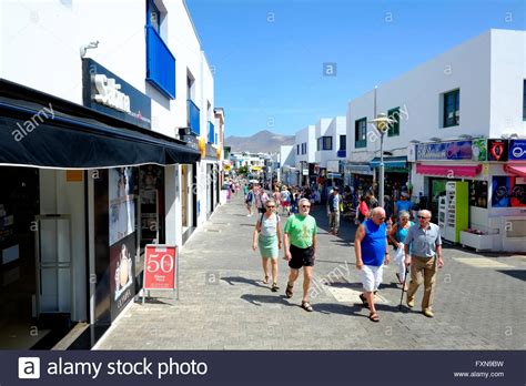
[[[6,331],[47,332],[20,348],[44,348],[75,321],[97,335],[142,287],[144,245],[181,245],[179,167],[200,153],[144,123],[1,82],[0,174],[13,185],[0,203],[0,304],[26,304],[4,314]]]

